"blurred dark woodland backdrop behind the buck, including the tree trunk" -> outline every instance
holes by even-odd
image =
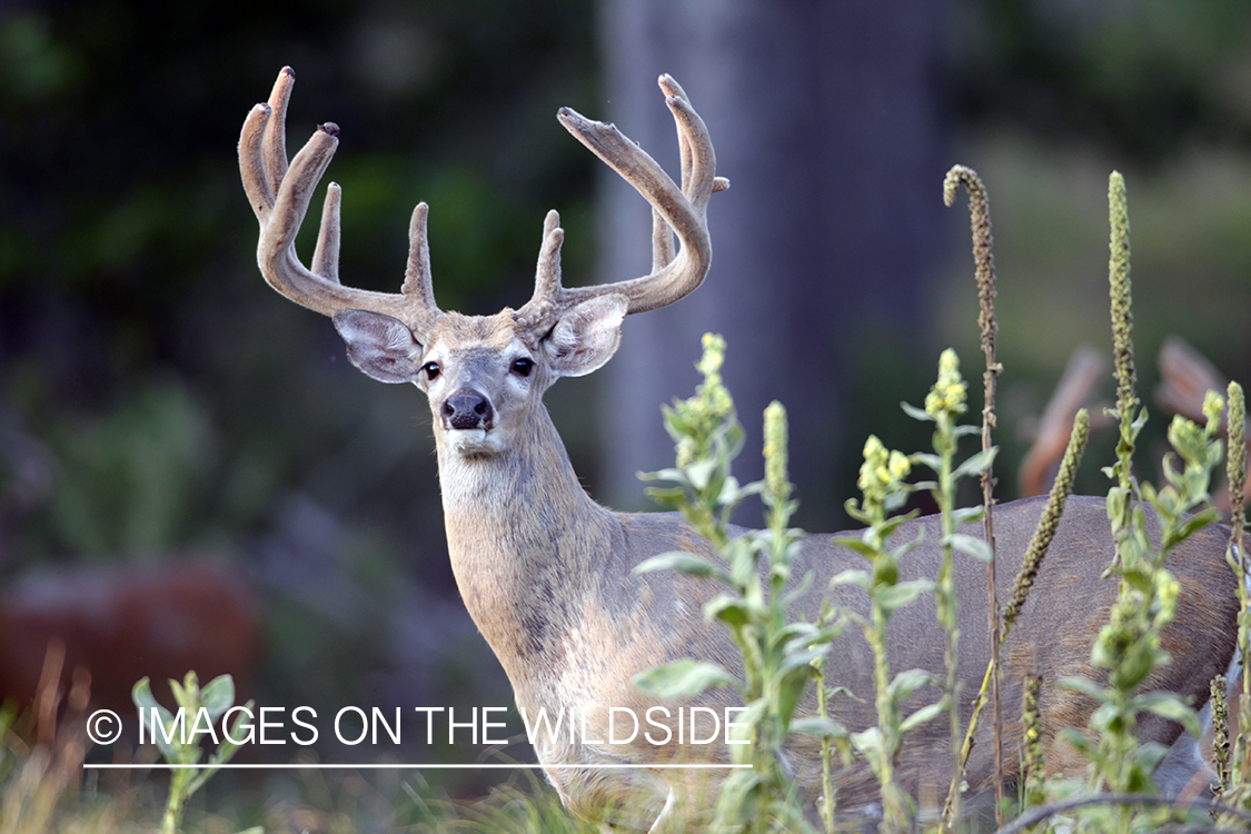
[[[548,398],[614,506],[646,509],[633,474],[668,460],[658,408],[694,385],[704,330],[729,341],[749,450],[763,405],[791,409],[806,528],[844,523],[867,433],[928,443],[897,404],[923,399],[943,346],[975,388],[982,361],[965,200],[941,203],[955,163],[996,221],[1002,499],[1070,354],[1107,345],[1112,169],[1143,396],[1168,334],[1251,379],[1240,0],[5,4],[4,604],[49,571],[224,565],[258,600],[265,704],[510,704],[450,578],[424,398],[359,375],[329,321],[256,271],[235,144],[286,64],[291,149],[342,129],[344,281],[395,291],[425,200],[439,304],[474,314],[529,298],[552,208],[567,284],[646,271],[646,205],[554,114],[614,120],[674,170],[654,80],[684,85],[733,184],[708,283]]]

